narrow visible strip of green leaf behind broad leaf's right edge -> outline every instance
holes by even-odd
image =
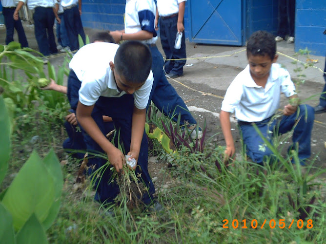
[[[63,176],[61,171],[61,166],[57,155],[54,150],[51,149],[46,157],[43,159],[44,165],[48,170],[49,174],[54,179],[54,190],[55,190],[55,199],[51,208],[49,209],[49,213],[47,218],[42,222],[44,229],[48,229],[53,221],[56,219],[59,208],[61,204],[61,192],[63,187]]]

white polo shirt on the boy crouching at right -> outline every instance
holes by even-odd
[[[265,88],[255,83],[247,65],[228,87],[221,110],[235,113],[241,121],[259,122],[279,109],[281,92],[286,97],[296,94],[290,74],[280,64],[272,64]]]

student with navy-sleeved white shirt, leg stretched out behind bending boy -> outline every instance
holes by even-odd
[[[167,81],[163,71],[163,56],[156,46],[157,33],[155,31],[154,21],[156,15],[156,5],[154,0],[127,0],[125,5],[124,30],[110,32],[111,36],[118,43],[121,40],[140,40],[151,50],[153,64],[152,71],[154,75],[153,88],[150,94],[150,100],[166,116],[177,121],[178,114],[181,114],[181,125],[186,125],[191,130],[197,125],[196,120],[189,112],[182,98]],[[201,130],[193,130],[192,138],[201,138]]]

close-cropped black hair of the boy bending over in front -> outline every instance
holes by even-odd
[[[143,83],[147,79],[151,66],[149,47],[136,40],[122,42],[114,57],[115,71],[134,84]]]

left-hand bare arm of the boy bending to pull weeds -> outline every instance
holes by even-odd
[[[91,116],[93,108],[94,105],[86,106],[79,101],[76,110],[77,120],[82,128],[92,137],[102,150],[106,152],[110,164],[120,172],[122,170],[122,165],[125,162],[125,156],[121,150],[117,149],[107,140],[105,135],[102,134],[102,131]]]

